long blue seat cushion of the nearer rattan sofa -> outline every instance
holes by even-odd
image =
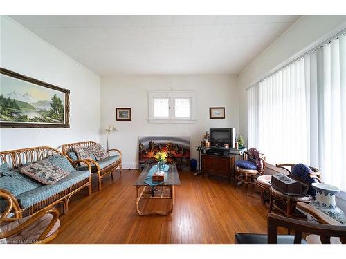
[[[73,184],[76,184],[86,178],[89,178],[89,171],[75,171],[67,175],[62,180],[56,182],[55,184],[42,185],[36,189],[22,193],[17,197],[17,200],[22,209],[26,209],[31,205],[44,200],[60,191],[64,191]]]

